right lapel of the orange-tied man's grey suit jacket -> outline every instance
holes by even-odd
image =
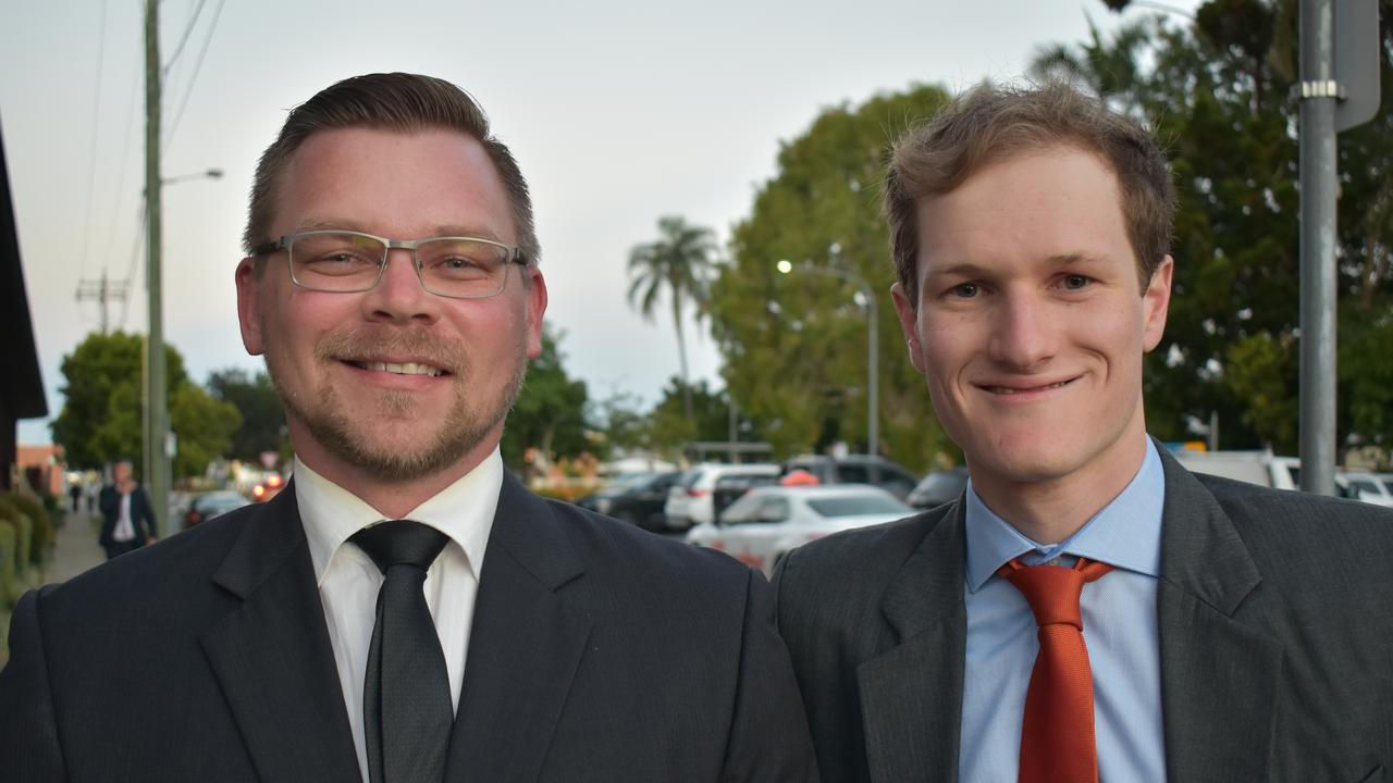
[[[1266,780],[1282,645],[1234,619],[1261,582],[1208,489],[1160,449],[1160,698],[1170,780]],[[1217,752],[1216,752],[1217,750]]]

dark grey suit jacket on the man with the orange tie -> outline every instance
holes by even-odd
[[[1194,475],[1165,450],[1162,460],[1169,780],[1385,780],[1393,511]],[[963,506],[825,538],[776,573],[779,628],[825,780],[958,779]]]

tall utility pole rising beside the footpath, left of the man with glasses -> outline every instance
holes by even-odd
[[[146,251],[145,290],[149,305],[145,341],[149,371],[149,465],[150,504],[155,506],[159,535],[169,531],[170,461],[166,451],[169,435],[169,387],[164,380],[164,315],[160,276],[160,33],[159,0],[145,0],[145,216]]]

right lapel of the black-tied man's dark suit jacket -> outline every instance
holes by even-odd
[[[483,556],[446,780],[536,780],[591,616],[560,588],[582,564],[552,509],[504,475]]]

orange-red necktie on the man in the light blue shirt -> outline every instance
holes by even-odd
[[[1098,783],[1094,674],[1078,596],[1084,582],[1112,570],[1080,557],[1073,568],[1022,566],[1013,559],[996,571],[1021,591],[1041,628],[1041,651],[1025,691],[1020,783]]]

